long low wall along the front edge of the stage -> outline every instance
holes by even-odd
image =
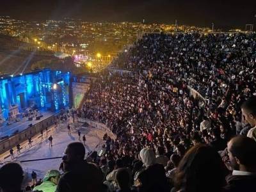
[[[56,119],[56,115],[50,116],[41,122],[38,122],[27,129],[18,132],[17,134],[6,138],[3,141],[0,141],[0,154],[10,150],[11,148],[15,147],[19,143],[22,143],[28,138],[32,138],[36,134],[40,133],[42,130],[45,130],[47,127],[50,127],[54,124]]]

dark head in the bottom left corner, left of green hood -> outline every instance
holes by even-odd
[[[0,168],[0,188],[3,192],[20,191],[23,170],[17,163],[7,163]]]

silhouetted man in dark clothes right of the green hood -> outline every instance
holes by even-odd
[[[102,189],[103,174],[93,163],[84,160],[83,143],[68,144],[63,157],[61,176],[56,192],[95,191]]]

